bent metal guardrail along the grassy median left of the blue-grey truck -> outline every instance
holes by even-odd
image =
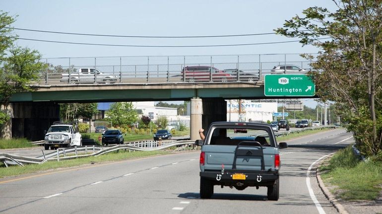
[[[111,146],[98,146],[98,145],[85,145],[85,146],[74,146],[71,148],[58,148],[56,151],[45,153],[42,149],[43,155],[38,157],[26,157],[15,154],[0,153],[0,161],[2,161],[6,167],[8,165],[19,165],[24,166],[24,164],[34,163],[42,164],[46,161],[60,161],[68,160],[78,157],[88,157],[88,156],[98,156],[101,154],[106,154],[113,151],[118,151],[121,149],[129,151],[154,151],[169,148],[172,146],[185,146],[193,144],[194,141],[176,141],[176,140],[166,140],[166,141],[141,141],[126,144],[117,144]]]

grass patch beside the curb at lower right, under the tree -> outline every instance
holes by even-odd
[[[324,183],[334,185],[336,196],[343,200],[375,200],[381,193],[382,157],[359,161],[351,146],[336,152],[319,167]]]

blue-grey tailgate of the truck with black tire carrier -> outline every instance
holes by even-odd
[[[256,155],[256,150],[260,149],[260,146],[245,146],[244,153],[248,155],[236,155],[236,169],[238,170],[261,170],[262,158],[264,161],[264,168],[268,170],[274,168],[274,156],[277,149],[274,147],[262,147],[263,155]],[[204,145],[202,151],[205,152],[204,166],[200,166],[202,171],[204,170],[221,170],[222,164],[225,169],[232,169],[235,161],[235,145]],[[243,153],[243,152],[241,152]]]

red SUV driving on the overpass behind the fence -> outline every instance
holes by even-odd
[[[227,81],[232,77],[229,73],[220,71],[210,66],[188,66],[183,68],[182,81],[195,82],[195,81]]]

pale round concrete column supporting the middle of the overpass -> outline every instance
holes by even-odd
[[[190,139],[193,141],[200,140],[199,129],[202,127],[202,114],[202,100],[200,98],[191,99]]]

